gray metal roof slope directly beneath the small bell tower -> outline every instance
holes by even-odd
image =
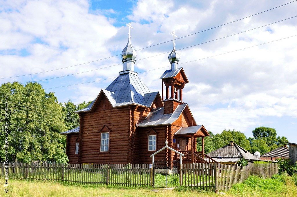
[[[163,114],[164,107],[154,108],[149,115],[141,123],[138,123],[138,127],[156,126],[156,125],[170,125],[178,119],[181,113],[186,108],[187,104],[180,104],[176,107],[172,114]]]

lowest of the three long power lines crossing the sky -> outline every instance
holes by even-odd
[[[294,35],[294,36],[297,36],[297,35]],[[252,48],[252,47],[257,47],[257,46],[265,45],[265,44],[268,44],[268,43],[271,43],[271,42],[276,42],[276,41],[279,41],[279,40],[291,38],[291,37],[294,37],[294,36],[289,36],[289,37],[286,37],[286,38],[282,38],[282,39],[278,39],[278,40],[274,40],[274,41],[270,41],[270,42],[265,42],[265,43],[262,43],[262,44],[259,44],[259,45],[245,47],[245,48],[242,48],[242,49],[238,49],[238,50],[234,50],[234,51],[229,51],[229,52],[221,53],[221,54],[217,54],[217,55],[212,55],[212,56],[209,56],[209,57],[206,57],[206,58],[200,58],[200,59],[197,59],[197,60],[192,60],[192,61],[188,61],[188,62],[184,62],[184,63],[180,63],[180,64],[190,63],[190,62],[193,62],[193,61],[199,61],[199,60],[203,60],[203,59],[207,59],[207,58],[212,58],[212,57],[219,56],[219,55],[225,55],[225,54],[228,54],[228,53],[233,53],[233,52],[236,52],[236,51],[240,51],[240,50],[244,50],[244,49],[248,49],[248,48]],[[161,68],[166,68],[166,67],[170,67],[170,66],[165,66],[165,67],[161,67]],[[161,69],[161,68],[157,68],[157,69]],[[153,70],[157,70],[157,69],[151,69],[151,70],[147,70],[147,71],[143,71],[143,72],[149,72],[149,71],[153,71]],[[139,72],[139,73],[143,73],[143,72]],[[116,78],[116,77],[111,77],[111,78],[108,78],[108,79],[113,79],[113,78]],[[98,81],[103,81],[103,80],[108,80],[108,79],[102,79],[102,80],[96,80],[96,81],[90,81],[90,82],[84,82],[84,83],[77,83],[77,84],[59,86],[59,87],[54,87],[54,88],[63,88],[63,87],[68,87],[68,86],[73,86],[73,85],[81,85],[81,84],[92,83],[92,82],[98,82]],[[54,89],[54,88],[46,88],[45,90]]]

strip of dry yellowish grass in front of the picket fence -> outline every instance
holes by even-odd
[[[0,179],[1,185],[4,180]],[[115,187],[87,187],[87,186],[65,186],[56,182],[38,182],[9,180],[9,192],[4,193],[4,188],[0,190],[0,196],[222,196],[215,193],[199,193],[198,191],[183,190],[163,190],[153,191],[146,188],[115,188]],[[297,196],[297,187],[291,181],[286,180],[282,191],[273,189],[259,190],[248,185],[242,185],[240,190],[230,190],[223,196]]]

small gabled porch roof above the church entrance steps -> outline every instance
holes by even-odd
[[[174,134],[176,136],[184,137],[205,137],[209,136],[207,130],[203,125],[191,126],[191,127],[182,127]]]

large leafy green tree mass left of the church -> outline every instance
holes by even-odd
[[[4,83],[0,87],[1,136],[4,144],[4,124],[8,125],[9,161],[67,162],[64,112],[54,93],[45,93],[37,82],[22,85]],[[8,117],[5,118],[5,103]],[[4,160],[4,147],[0,147],[0,160]]]

